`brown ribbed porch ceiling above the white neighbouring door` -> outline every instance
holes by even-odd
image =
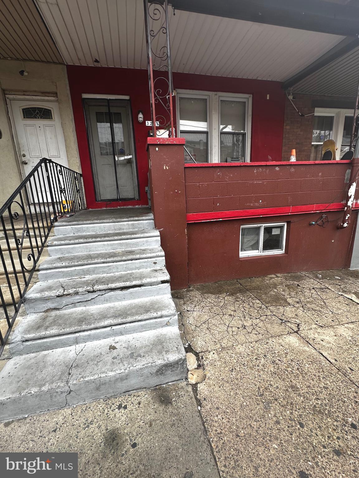
[[[33,0],[0,0],[0,58],[64,63]]]

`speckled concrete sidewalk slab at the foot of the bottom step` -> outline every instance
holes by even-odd
[[[219,478],[182,382],[0,424],[1,452],[79,453],[79,478]]]

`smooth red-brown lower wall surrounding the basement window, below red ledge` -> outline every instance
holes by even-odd
[[[358,213],[353,214],[346,230],[337,229],[342,211],[326,215],[330,222],[325,228],[309,225],[320,213],[188,224],[189,283],[347,268]],[[241,225],[270,222],[287,222],[285,254],[239,257]]]

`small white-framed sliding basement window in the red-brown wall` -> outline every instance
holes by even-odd
[[[285,222],[241,226],[239,256],[284,254]]]

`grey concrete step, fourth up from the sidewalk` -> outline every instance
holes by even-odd
[[[165,267],[165,253],[160,247],[53,256],[45,259],[40,265],[39,280],[65,279],[154,267]]]

